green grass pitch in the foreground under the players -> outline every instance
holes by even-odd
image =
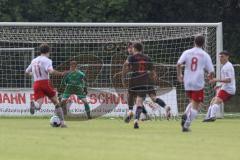
[[[240,119],[140,123],[121,119],[67,121],[52,128],[49,119],[0,118],[0,160],[239,160]]]

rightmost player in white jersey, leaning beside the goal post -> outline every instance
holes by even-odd
[[[219,53],[220,62],[222,64],[220,79],[213,78],[211,83],[219,83],[215,87],[216,96],[212,99],[208,108],[207,115],[203,122],[214,122],[216,114],[220,110],[220,105],[228,101],[236,92],[235,72],[231,62],[229,62],[230,53],[222,51]]]

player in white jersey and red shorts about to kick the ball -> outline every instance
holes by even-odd
[[[55,114],[61,120],[61,127],[66,127],[64,122],[63,110],[60,106],[56,91],[53,89],[49,74],[63,76],[63,72],[53,69],[52,60],[49,59],[50,47],[48,44],[40,45],[40,56],[34,58],[26,69],[25,73],[33,76],[34,84],[34,101],[30,104],[30,113],[34,114],[35,110],[39,110],[43,104],[44,97],[47,96],[55,105]]]

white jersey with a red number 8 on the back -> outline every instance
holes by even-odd
[[[212,60],[202,48],[194,47],[182,53],[178,64],[185,64],[184,88],[197,91],[204,88],[204,71],[214,72]]]

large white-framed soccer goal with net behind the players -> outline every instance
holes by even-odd
[[[193,47],[194,36],[202,34],[206,37],[204,48],[210,54],[219,76],[217,53],[222,51],[222,23],[2,22],[0,33],[2,90],[30,89],[31,78],[22,75],[33,52],[36,57],[39,45],[48,43],[52,48],[50,58],[55,69],[68,70],[69,62],[75,60],[79,69],[87,75],[90,92],[94,88],[104,90],[104,93],[106,90],[121,93],[121,97],[115,99],[101,92],[90,93],[92,105],[98,101],[119,104],[120,109],[114,109],[114,116],[123,115],[123,110],[127,108],[126,88],[122,84],[121,75],[116,73],[121,71],[128,56],[128,42],[143,43],[144,53],[154,61],[159,77],[157,94],[167,105],[174,106],[175,115],[178,111],[184,111],[188,103],[183,85],[176,78],[176,63],[184,50]],[[64,89],[61,77],[52,77],[52,81],[61,93]],[[206,84],[204,106],[207,106],[214,94],[213,86]]]

